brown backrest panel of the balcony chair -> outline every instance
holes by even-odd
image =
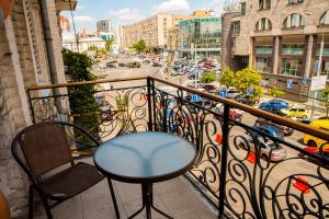
[[[36,177],[72,160],[65,128],[55,122],[32,125],[22,130],[15,140]],[[13,143],[14,147],[18,142]]]

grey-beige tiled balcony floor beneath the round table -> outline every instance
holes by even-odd
[[[141,207],[140,185],[114,181],[114,188],[121,218],[127,218]],[[217,216],[182,176],[155,184],[154,194],[155,205],[174,218],[215,219]],[[55,207],[52,212],[54,219],[114,219],[115,211],[107,181],[104,180],[81,195],[64,201]],[[35,218],[45,219],[45,212]],[[146,218],[145,211],[138,215],[137,218]],[[163,217],[152,211],[152,218]]]

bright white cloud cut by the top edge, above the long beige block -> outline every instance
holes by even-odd
[[[154,5],[151,8],[151,11],[154,13],[181,12],[181,11],[189,11],[191,7],[188,0],[168,0],[168,1],[162,1],[158,5]]]

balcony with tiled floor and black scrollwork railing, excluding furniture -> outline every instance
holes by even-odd
[[[91,85],[95,89],[83,93],[81,88]],[[27,94],[34,123],[78,123],[97,115],[92,127],[84,128],[99,141],[152,130],[193,142],[198,151],[193,169],[184,177],[155,185],[156,201],[175,218],[328,216],[327,131],[151,77],[35,87]],[[190,94],[202,101],[192,102]],[[73,104],[78,96],[82,105],[99,106],[79,111]],[[223,111],[214,107],[218,103]],[[237,110],[242,120],[231,113]],[[260,118],[294,132],[271,135],[253,126]],[[318,142],[317,148],[304,145],[311,140]],[[92,151],[79,151],[72,145],[77,159],[90,159]],[[131,215],[140,205],[139,187],[115,183],[115,188],[121,212]],[[109,194],[102,182],[54,212],[58,218],[114,217]]]

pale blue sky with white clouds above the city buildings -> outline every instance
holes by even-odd
[[[78,0],[73,18],[77,31],[87,27],[92,32],[97,21],[103,19],[111,19],[114,25],[128,24],[159,12],[190,14],[202,9],[219,15],[227,1],[231,0]],[[71,19],[70,12],[61,15]]]

